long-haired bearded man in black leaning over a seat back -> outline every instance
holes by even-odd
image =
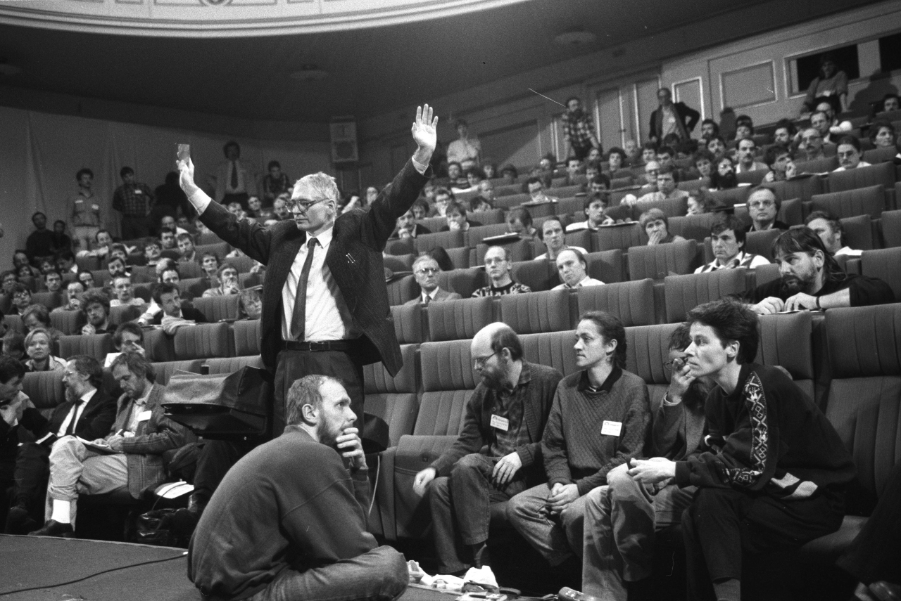
[[[887,283],[845,274],[813,229],[793,228],[773,240],[780,278],[744,294],[760,315],[786,310],[863,307],[895,301]]]

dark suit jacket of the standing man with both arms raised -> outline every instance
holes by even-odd
[[[397,218],[409,210],[428,181],[426,175],[420,175],[413,161],[408,160],[394,182],[378,194],[369,211],[355,209],[335,220],[332,244],[325,256],[354,325],[363,334],[354,361],[381,361],[391,375],[404,362],[391,320],[382,251]],[[267,266],[259,323],[260,348],[263,363],[274,371],[281,341],[281,292],[306,241],[306,233],[297,229],[294,220],[281,221],[271,228],[238,220],[216,202],[210,202],[200,220],[232,247],[241,248],[247,256]]]

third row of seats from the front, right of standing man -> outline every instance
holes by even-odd
[[[778,231],[761,234],[758,240],[760,247],[749,244],[749,248],[751,252],[759,250],[761,255],[769,256],[769,243],[778,236]],[[756,238],[749,237],[749,240]],[[887,282],[896,292],[896,298],[901,300],[898,297],[901,292],[901,270],[897,269],[901,265],[901,247],[866,250],[860,258],[838,258],[847,273],[878,277]],[[673,275],[698,277],[703,274],[693,274],[696,267],[702,261],[713,260],[713,257],[705,256],[704,246],[695,240],[684,240],[652,247],[632,247],[627,255],[623,255],[621,250],[588,253],[586,260],[588,275],[610,285],[627,281],[636,283],[649,278],[661,282]],[[757,274],[756,281],[765,283],[778,277],[778,265],[764,265],[754,272]],[[514,281],[529,286],[532,292],[548,291],[560,283],[556,266],[551,261],[515,261],[511,276]],[[478,288],[487,286],[489,280],[482,267],[469,267],[438,274],[438,283],[443,290],[457,292],[466,298]],[[419,294],[419,285],[413,275],[400,277],[388,283],[387,288],[388,301],[392,305],[402,305]]]

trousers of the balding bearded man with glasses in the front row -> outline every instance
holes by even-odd
[[[479,453],[464,455],[456,462],[451,475],[432,480],[429,504],[438,570],[451,574],[469,567],[469,550],[463,545],[476,545],[488,540],[491,504],[501,503],[525,489],[522,478],[498,489],[491,473],[499,457]]]

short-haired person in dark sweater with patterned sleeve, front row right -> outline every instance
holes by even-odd
[[[682,517],[692,599],[710,597],[712,584],[715,598],[739,601],[745,553],[838,530],[854,479],[851,454],[814,401],[778,367],[753,363],[757,321],[729,300],[688,313],[687,374],[717,383],[705,403],[710,434],[701,453],[629,470],[642,484],[697,487]]]

